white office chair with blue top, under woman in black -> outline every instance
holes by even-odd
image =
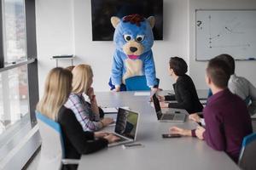
[[[63,159],[65,157],[65,148],[60,124],[38,111],[36,111],[36,116],[42,139],[38,169],[56,170],[61,169],[62,165],[79,164],[79,160]]]

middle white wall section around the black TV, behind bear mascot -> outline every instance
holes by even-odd
[[[88,63],[94,71],[94,87],[97,91],[108,91],[108,79],[113,60],[113,42],[91,41],[90,1],[74,0],[74,39],[78,63]],[[187,1],[169,0],[164,5],[164,41],[155,41],[153,47],[157,77],[161,88],[172,88],[167,75],[171,56],[188,56]],[[178,33],[177,33],[178,32]]]

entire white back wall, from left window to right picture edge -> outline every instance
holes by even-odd
[[[114,45],[91,41],[90,1],[37,0],[36,6],[40,92],[47,72],[55,66],[55,61],[49,59],[55,54],[75,54],[74,64],[90,64],[96,91],[108,91]],[[164,0],[164,41],[155,41],[153,46],[160,88],[172,88],[172,79],[167,74],[172,56],[183,57],[188,62],[196,88],[207,88],[204,81],[207,62],[195,61],[195,8],[256,8],[256,1]],[[69,62],[61,62],[61,66],[67,65]],[[236,72],[256,85],[255,61],[236,62]]]

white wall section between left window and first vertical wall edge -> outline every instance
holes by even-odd
[[[37,45],[38,45],[38,80],[42,96],[44,80],[50,69],[55,67],[51,56],[73,54],[73,1],[72,0],[37,0]],[[60,63],[61,65],[63,62]],[[64,61],[65,65],[67,61]]]

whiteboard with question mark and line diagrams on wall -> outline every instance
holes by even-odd
[[[256,59],[256,9],[195,10],[195,59]]]

